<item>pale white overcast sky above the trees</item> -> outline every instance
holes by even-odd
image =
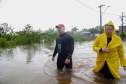
[[[126,15],[125,0],[0,0],[0,23],[8,23],[21,30],[26,24],[34,29],[47,30],[63,23],[67,30],[77,26],[99,25],[98,5],[102,7],[103,24],[112,20],[117,26],[121,24],[121,12]],[[107,7],[110,6],[110,7]],[[126,18],[125,18],[126,19]],[[125,20],[126,21],[126,20]]]

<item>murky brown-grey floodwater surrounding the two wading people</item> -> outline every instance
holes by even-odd
[[[122,67],[120,80],[104,79],[92,72],[96,59],[92,42],[75,45],[71,73],[58,74],[52,54],[53,46],[46,48],[41,44],[0,49],[0,84],[125,84]]]

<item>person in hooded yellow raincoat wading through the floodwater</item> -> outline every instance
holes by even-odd
[[[96,66],[93,71],[100,72],[107,78],[119,79],[119,66],[126,70],[126,59],[124,57],[123,43],[115,33],[115,26],[109,21],[104,26],[104,32],[99,35],[93,50],[97,53]]]

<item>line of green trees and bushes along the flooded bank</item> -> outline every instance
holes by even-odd
[[[94,39],[95,34],[99,33],[99,27],[83,28],[82,30],[73,27],[67,33],[73,36],[76,42],[89,41]],[[57,36],[58,32],[55,28],[49,28],[46,31],[41,31],[40,29],[35,31],[33,30],[33,26],[27,24],[22,31],[15,32],[14,28],[7,23],[0,24],[0,48],[42,43],[43,40],[45,43],[51,44]]]

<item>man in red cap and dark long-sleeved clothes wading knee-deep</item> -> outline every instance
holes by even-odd
[[[74,40],[70,35],[65,33],[65,26],[63,24],[56,25],[56,28],[59,32],[59,37],[56,39],[52,60],[54,61],[54,58],[58,53],[57,70],[62,72],[64,66],[66,69],[71,70]]]

